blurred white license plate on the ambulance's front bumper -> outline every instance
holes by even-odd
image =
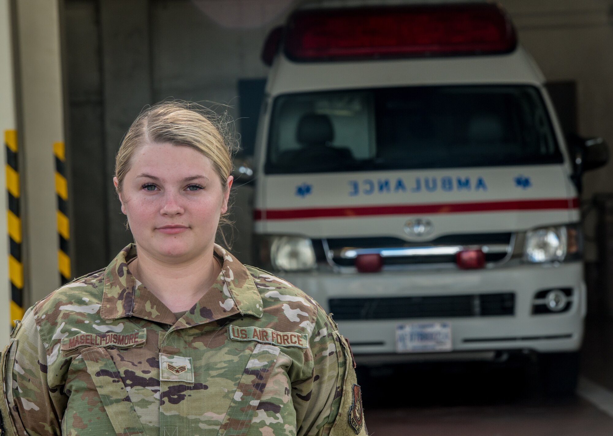
[[[396,326],[397,353],[451,351],[449,323],[410,323]]]

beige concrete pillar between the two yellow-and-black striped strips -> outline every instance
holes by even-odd
[[[58,0],[15,1],[29,304],[59,286],[54,143],[64,141]]]

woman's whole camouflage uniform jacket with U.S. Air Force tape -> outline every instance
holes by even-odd
[[[308,295],[221,247],[177,319],[110,265],[26,312],[2,354],[7,434],[365,435],[349,347]]]

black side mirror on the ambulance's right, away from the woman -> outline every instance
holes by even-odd
[[[566,137],[568,151],[573,161],[573,181],[581,192],[581,178],[585,171],[603,167],[609,162],[609,147],[603,138],[583,138],[576,133]]]

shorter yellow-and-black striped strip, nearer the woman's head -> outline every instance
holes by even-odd
[[[53,144],[55,154],[55,192],[58,197],[58,266],[61,284],[70,281],[70,257],[68,241],[70,239],[70,223],[68,220],[68,182],[66,181],[66,148],[63,142]]]

